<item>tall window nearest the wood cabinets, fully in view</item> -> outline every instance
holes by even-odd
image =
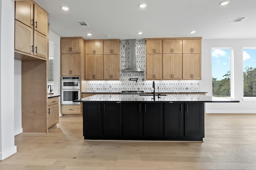
[[[232,48],[212,48],[212,96],[234,96],[232,62]]]

